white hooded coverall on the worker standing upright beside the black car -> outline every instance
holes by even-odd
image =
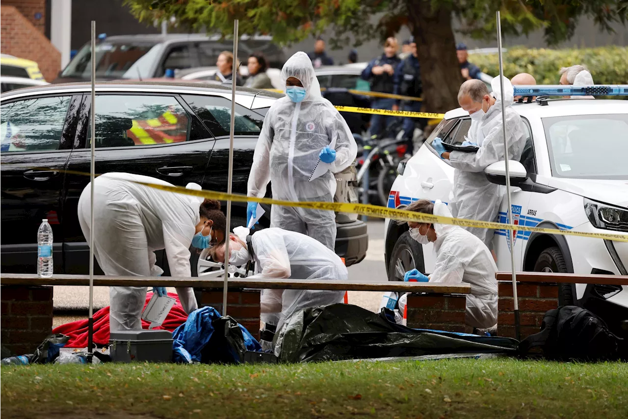
[[[290,57],[281,70],[285,86],[296,77],[306,96],[295,103],[284,96],[276,101],[264,118],[249,174],[248,196],[263,198],[271,182],[273,198],[288,201],[333,202],[336,191],[334,173],[355,160],[357,145],[344,118],[320,94],[320,84],[305,52]],[[323,176],[309,182],[320,150],[336,140],[336,159]],[[309,210],[273,205],[271,227],[303,233],[334,249],[336,223],[333,211]]]

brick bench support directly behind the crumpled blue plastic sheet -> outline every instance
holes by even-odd
[[[231,316],[259,340],[259,289],[227,290],[227,316]],[[201,306],[212,306],[222,314],[222,289],[203,289]]]

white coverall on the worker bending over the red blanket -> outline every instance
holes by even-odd
[[[190,277],[190,243],[203,198],[160,191],[133,181],[172,186],[154,177],[107,173],[94,180],[94,255],[112,276],[158,276],[154,250],[166,249],[170,274]],[[188,184],[188,189],[201,189]],[[90,184],[78,199],[78,221],[89,242]],[[176,288],[186,313],[197,310],[192,288]],[[141,329],[146,287],[111,287],[109,329]]]

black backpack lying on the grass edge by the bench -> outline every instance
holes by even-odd
[[[620,358],[624,340],[609,331],[601,318],[576,306],[549,310],[541,332],[521,341],[517,349],[526,355],[540,347],[547,359],[613,360]]]

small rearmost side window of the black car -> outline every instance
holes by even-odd
[[[229,135],[231,101],[219,96],[183,96],[215,137]],[[263,116],[236,104],[235,135],[259,135]]]

